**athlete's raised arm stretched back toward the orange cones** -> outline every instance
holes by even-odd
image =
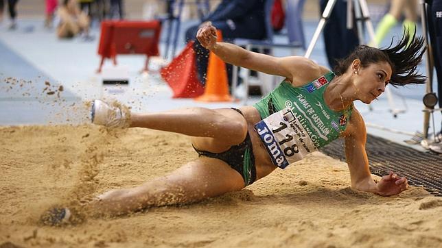
[[[323,66],[318,66],[312,60],[300,56],[276,58],[248,51],[231,43],[216,42],[216,28],[210,25],[210,23],[198,30],[196,38],[198,38],[203,47],[213,51],[226,63],[253,71],[286,77],[294,86],[301,86],[305,82],[316,79],[324,71],[328,71]]]

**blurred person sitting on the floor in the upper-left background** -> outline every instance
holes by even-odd
[[[58,9],[58,38],[73,38],[82,34],[85,40],[91,39],[89,36],[89,17],[78,7],[77,0],[63,0]]]

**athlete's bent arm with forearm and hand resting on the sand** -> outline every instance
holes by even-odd
[[[367,130],[359,112],[354,109],[345,137],[345,156],[349,166],[351,187],[379,195],[396,195],[406,190],[407,179],[398,177],[395,173],[382,177],[377,184],[371,177],[369,160],[365,151]]]

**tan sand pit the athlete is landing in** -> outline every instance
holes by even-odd
[[[54,204],[137,186],[196,158],[189,138],[89,125],[0,127],[0,247],[442,247],[442,199],[349,188],[313,153],[240,191],[188,206],[46,227]]]

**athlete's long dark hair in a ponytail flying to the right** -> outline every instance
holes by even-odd
[[[416,32],[411,37],[408,32],[404,32],[401,40],[394,47],[393,39],[386,49],[360,45],[347,58],[338,60],[334,73],[336,75],[344,74],[356,59],[361,61],[362,67],[385,61],[390,64],[392,69],[390,84],[394,86],[425,84],[427,77],[416,71],[426,50],[423,44],[422,36],[416,37]]]

